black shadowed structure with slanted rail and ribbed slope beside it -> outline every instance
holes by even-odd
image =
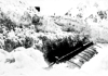
[[[86,38],[80,39],[79,37],[66,37],[57,40],[43,40],[43,52],[44,59],[50,64],[50,67],[54,64],[70,62],[76,64],[78,67],[89,61],[96,50],[91,48],[94,43],[89,41]],[[86,50],[86,51],[85,51]],[[81,54],[79,54],[81,53]],[[77,56],[76,56],[77,55]],[[79,63],[71,61],[71,59],[79,59]]]

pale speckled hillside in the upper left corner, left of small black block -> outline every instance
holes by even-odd
[[[0,13],[6,15],[17,25],[28,25],[31,23],[31,17],[38,14],[38,11],[26,1],[3,0],[0,1]]]

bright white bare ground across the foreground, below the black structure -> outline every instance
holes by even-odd
[[[66,64],[54,65],[52,69],[44,69],[42,67],[46,67],[46,64],[43,62],[42,53],[33,49],[17,48],[16,52],[5,53],[5,56],[3,56],[4,53],[0,52],[1,58],[15,59],[15,63],[0,63],[0,76],[107,76],[108,45],[100,47],[97,48],[98,54],[86,62],[81,69],[67,68],[65,67]]]

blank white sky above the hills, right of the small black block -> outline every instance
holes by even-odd
[[[64,15],[71,8],[77,7],[79,3],[93,4],[95,2],[99,3],[103,9],[108,7],[107,0],[27,0],[28,3],[35,7],[41,8],[41,14],[44,15]]]

